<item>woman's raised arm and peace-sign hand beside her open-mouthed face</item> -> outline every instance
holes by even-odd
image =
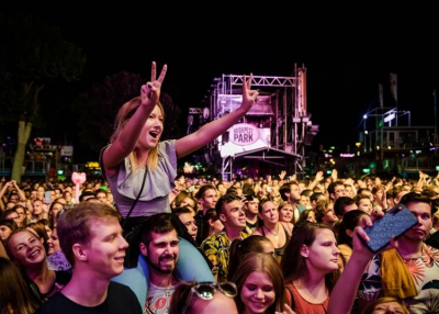
[[[160,98],[160,88],[166,71],[167,65],[162,67],[160,76],[156,79],[157,66],[153,61],[150,81],[140,88],[140,104],[135,110],[133,116],[126,122],[125,126],[123,126],[117,138],[103,153],[102,159],[105,171],[114,169],[135,148],[142,128]]]

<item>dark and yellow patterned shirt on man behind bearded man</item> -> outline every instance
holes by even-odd
[[[241,238],[248,234],[241,232]],[[227,281],[228,257],[230,254],[230,240],[225,231],[207,237],[202,244],[201,249],[213,263],[212,273],[217,274],[218,281]]]

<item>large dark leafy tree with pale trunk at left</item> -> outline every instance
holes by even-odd
[[[32,126],[46,123],[40,116],[42,90],[79,80],[86,56],[63,40],[58,27],[32,14],[0,15],[0,116],[3,122],[19,121],[12,179],[20,182]]]

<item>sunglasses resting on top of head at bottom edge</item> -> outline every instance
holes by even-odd
[[[184,304],[184,309],[181,313],[185,313],[193,294],[202,300],[212,300],[215,296],[216,291],[221,291],[228,298],[235,298],[238,294],[238,289],[233,282],[200,282],[195,283],[191,288],[188,301]]]

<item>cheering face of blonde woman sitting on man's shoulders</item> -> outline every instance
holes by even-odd
[[[140,136],[138,137],[137,146],[144,149],[150,149],[157,146],[160,135],[164,132],[164,116],[158,105],[149,114]]]

